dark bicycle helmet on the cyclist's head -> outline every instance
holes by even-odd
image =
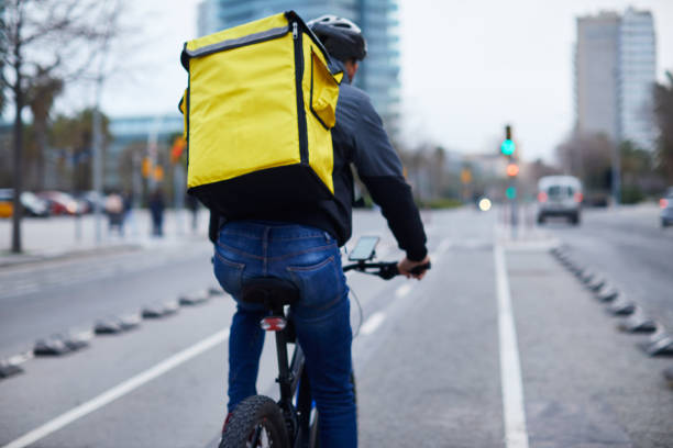
[[[362,30],[347,19],[327,14],[309,21],[307,25],[328,53],[341,61],[362,60],[367,55],[367,43],[362,36]]]

